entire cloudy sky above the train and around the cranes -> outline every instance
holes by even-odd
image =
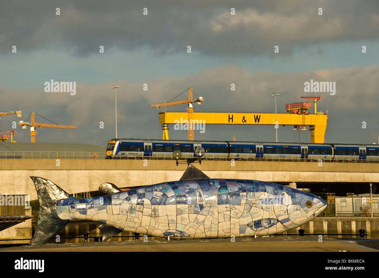
[[[329,114],[325,143],[378,143],[375,0],[4,0],[0,30],[0,110],[22,110],[21,118],[1,116],[0,130],[13,129],[32,110],[77,126],[37,129],[36,142],[105,145],[116,137],[114,86],[118,137],[161,139],[163,109],[151,104],[191,86],[205,99],[195,112],[274,113],[271,95],[279,93],[277,112],[284,113],[286,103],[319,94],[317,110]],[[51,79],[76,82],[75,95],[45,92]],[[335,95],[305,93],[311,79],[335,82]],[[166,111],[185,112],[186,104]],[[38,115],[35,120],[49,123]],[[170,139],[186,140],[186,130],[169,128]],[[17,124],[16,130],[16,140],[30,141],[29,128]],[[298,141],[293,126],[277,131],[279,142]],[[233,135],[237,141],[276,140],[274,126],[206,125],[204,133],[194,132],[195,140]],[[300,135],[310,142],[309,130]]]

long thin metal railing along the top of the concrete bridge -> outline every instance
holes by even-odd
[[[281,154],[280,154],[281,155]],[[186,154],[182,154],[181,160],[185,160],[186,158],[193,157],[188,156],[186,157]],[[162,153],[154,156],[142,156],[140,154],[127,154],[124,152],[124,155],[122,155],[122,152],[119,152],[119,154],[106,157],[105,151],[104,152],[36,152],[36,151],[28,151],[28,152],[21,152],[21,151],[0,151],[0,159],[2,158],[70,158],[70,159],[104,159],[104,158],[110,158],[110,159],[167,159],[167,160],[174,160],[171,153]],[[301,158],[300,155],[281,155],[278,157],[278,155],[275,154],[264,154],[264,157],[260,158],[258,155],[254,157],[254,155],[250,154],[207,154],[202,157],[202,160],[236,160],[236,161],[285,161],[285,162],[319,162],[319,159],[321,159],[323,162],[363,162],[363,163],[379,163],[379,157],[367,157],[366,160],[360,160],[358,157],[349,157],[346,156],[343,159],[338,158],[332,159],[331,157],[327,158],[321,158],[321,155],[318,155],[318,157],[308,157],[308,158]]]

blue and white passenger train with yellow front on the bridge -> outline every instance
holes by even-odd
[[[204,160],[379,162],[379,146],[376,145],[149,139],[112,139],[106,147],[105,158],[171,159],[172,152],[179,149],[185,159],[196,157],[197,147],[204,148]]]

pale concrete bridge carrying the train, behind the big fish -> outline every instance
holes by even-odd
[[[176,166],[174,160],[60,159],[58,163],[55,159],[0,159],[0,192],[28,194],[31,200],[37,199],[29,176],[49,179],[70,194],[96,191],[103,182],[130,188],[179,180],[186,166]],[[255,179],[283,185],[293,183],[292,186],[297,183],[299,188],[339,183],[362,184],[369,190],[368,183],[374,183],[375,193],[375,183],[379,183],[378,163],[323,162],[319,166],[318,162],[235,161],[232,166],[230,161],[203,161],[194,166],[211,178]]]

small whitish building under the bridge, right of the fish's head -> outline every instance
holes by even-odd
[[[373,217],[379,217],[379,194],[372,194]],[[346,197],[335,197],[335,210],[338,217],[371,217],[370,193]]]

